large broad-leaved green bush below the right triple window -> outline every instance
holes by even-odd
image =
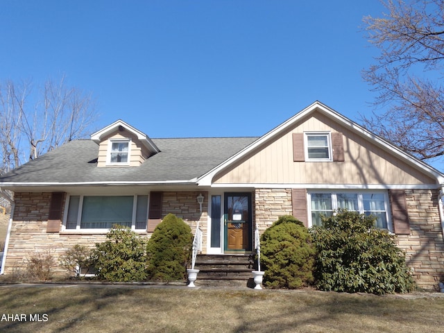
[[[311,230],[318,251],[316,286],[325,291],[405,293],[414,287],[405,255],[375,218],[339,211]]]

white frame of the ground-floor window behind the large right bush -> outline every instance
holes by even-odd
[[[313,226],[311,218],[311,194],[330,194],[332,196],[332,210],[336,214],[338,210],[337,194],[357,194],[359,214],[364,214],[364,199],[363,194],[383,194],[384,208],[386,213],[387,228],[389,232],[393,232],[393,223],[391,221],[391,206],[388,199],[387,191],[353,191],[353,190],[334,190],[334,191],[319,191],[311,190],[307,192],[307,209],[308,209],[308,225],[309,228]]]

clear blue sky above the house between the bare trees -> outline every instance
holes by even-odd
[[[318,100],[353,121],[377,50],[377,0],[0,0],[0,80],[67,77],[92,92],[96,129],[150,137],[260,136]]]

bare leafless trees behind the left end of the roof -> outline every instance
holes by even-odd
[[[42,153],[86,137],[96,119],[91,94],[68,87],[65,77],[33,92],[30,82],[0,83],[0,173]]]

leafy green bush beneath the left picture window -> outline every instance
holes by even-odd
[[[146,280],[144,239],[122,225],[114,225],[106,238],[92,250],[91,261],[97,278],[124,282]]]

